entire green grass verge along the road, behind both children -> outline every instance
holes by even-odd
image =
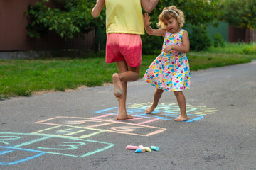
[[[228,44],[223,48],[211,47],[206,52],[190,52],[191,71],[251,62],[256,59],[255,47]],[[140,77],[156,55],[142,57]],[[117,72],[116,64],[105,63],[104,52],[76,59],[0,60],[0,96],[31,96],[34,91],[65,91],[82,85],[102,86],[112,83],[114,72]]]

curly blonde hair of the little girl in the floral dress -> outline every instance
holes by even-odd
[[[159,22],[156,23],[156,25],[159,28],[166,28],[164,26],[164,20],[169,20],[171,18],[175,18],[176,21],[178,21],[178,26],[180,28],[184,26],[184,13],[181,10],[179,10],[176,6],[169,6],[167,8],[164,8],[162,13],[159,15]]]

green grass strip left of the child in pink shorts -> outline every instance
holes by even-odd
[[[76,89],[101,86],[112,81],[115,64],[102,58],[0,60],[0,93],[6,96],[30,96],[33,91]]]

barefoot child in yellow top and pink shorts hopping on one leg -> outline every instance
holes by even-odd
[[[119,73],[112,76],[114,96],[119,102],[117,120],[132,118],[127,114],[127,82],[139,78],[144,34],[142,7],[150,13],[159,0],[97,0],[92,16],[106,6],[106,62],[116,62]]]

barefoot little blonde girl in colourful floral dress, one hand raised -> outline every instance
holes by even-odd
[[[159,103],[164,91],[174,91],[181,115],[175,121],[186,121],[186,98],[184,89],[190,87],[190,71],[186,53],[189,52],[188,32],[181,29],[184,23],[184,14],[176,6],[164,8],[159,15],[159,29],[152,29],[150,17],[144,14],[144,28],[146,33],[162,36],[164,43],[161,54],[156,57],[144,74],[144,81],[156,87],[153,103],[146,108],[150,114]]]

